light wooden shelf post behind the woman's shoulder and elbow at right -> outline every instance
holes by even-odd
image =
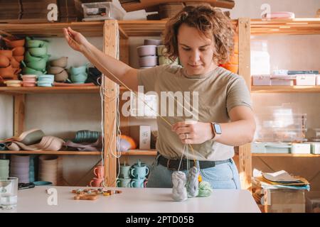
[[[250,18],[239,18],[239,74],[245,79],[251,91],[250,74]],[[239,147],[239,174],[242,189],[250,189],[252,177],[252,159],[250,143]]]

